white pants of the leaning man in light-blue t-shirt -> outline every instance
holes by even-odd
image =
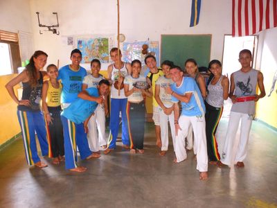
[[[193,132],[195,132],[195,147],[197,150],[197,170],[200,172],[208,171],[208,153],[207,153],[207,141],[206,141],[206,123],[205,116],[184,116],[179,118],[179,126],[181,130],[178,130],[175,143],[175,155],[177,162],[181,162],[186,159],[186,137],[188,135],[188,128],[193,126]]]

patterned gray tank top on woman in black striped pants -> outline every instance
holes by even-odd
[[[215,85],[211,83],[208,85],[208,96],[206,97],[206,102],[213,107],[222,107],[224,103],[223,99],[223,87],[221,85],[223,76],[217,81]]]

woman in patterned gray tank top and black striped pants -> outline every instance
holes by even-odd
[[[208,158],[210,159],[210,164],[217,164],[217,166],[221,165],[215,133],[222,116],[224,100],[226,100],[229,95],[229,79],[222,75],[221,66],[219,60],[212,60],[208,64],[208,69],[213,73],[213,79],[208,85],[208,96],[205,102]]]

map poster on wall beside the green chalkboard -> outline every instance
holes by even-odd
[[[143,68],[145,68],[144,58],[146,54],[142,53],[143,44],[148,45],[148,53],[156,57],[157,64],[159,65],[158,41],[123,42],[123,60],[130,63],[132,60],[138,59],[141,61]]]

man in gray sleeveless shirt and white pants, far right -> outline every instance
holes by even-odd
[[[255,102],[265,96],[264,78],[260,71],[252,69],[251,60],[251,51],[247,49],[240,51],[239,62],[242,68],[231,74],[229,98],[231,98],[233,106],[231,108],[221,162],[228,166],[231,166],[235,162],[238,168],[244,167],[243,160],[247,156],[247,143],[252,120],[255,115]],[[257,85],[260,89],[259,95],[256,94]],[[241,96],[253,96],[253,101],[238,102],[237,99]],[[233,152],[235,135],[240,121],[240,141],[238,149]],[[232,155],[232,153],[235,153],[235,155]]]

